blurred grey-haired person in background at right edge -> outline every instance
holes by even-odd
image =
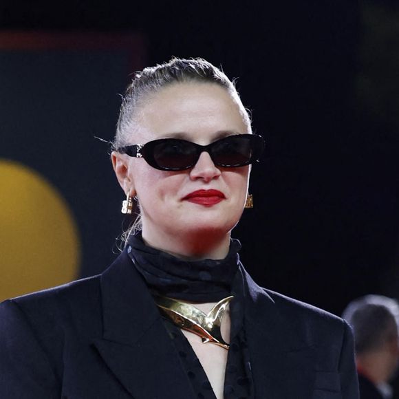
[[[366,295],[343,312],[354,330],[360,399],[391,399],[389,381],[398,367],[399,304],[382,295]]]

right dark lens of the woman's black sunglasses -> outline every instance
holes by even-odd
[[[243,166],[252,159],[253,141],[247,135],[226,137],[213,143],[212,159],[219,166]]]

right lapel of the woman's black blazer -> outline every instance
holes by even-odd
[[[246,335],[255,398],[312,398],[314,349],[304,343],[273,299],[244,272]]]

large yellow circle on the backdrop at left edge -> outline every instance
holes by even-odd
[[[0,301],[76,279],[79,261],[74,217],[56,188],[0,160]]]

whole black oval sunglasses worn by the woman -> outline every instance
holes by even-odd
[[[184,171],[192,168],[203,151],[211,155],[216,166],[237,168],[255,162],[264,148],[264,140],[255,134],[237,134],[216,140],[208,145],[162,138],[146,144],[132,144],[116,151],[131,157],[144,158],[147,164],[160,171]]]

